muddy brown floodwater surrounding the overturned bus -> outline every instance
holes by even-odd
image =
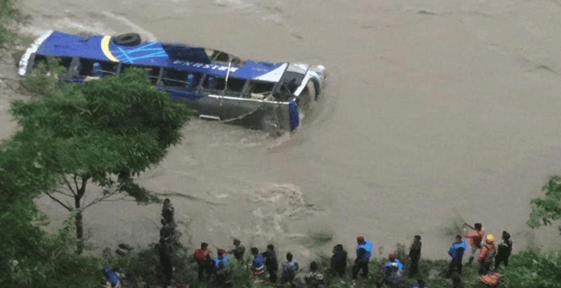
[[[514,251],[559,249],[557,227],[526,226],[531,198],[561,171],[557,1],[22,0],[28,33],[136,32],[242,58],[322,64],[315,115],[274,139],[195,119],[138,180],[171,195],[183,241],[272,243],[296,259],[356,236],[389,253],[422,236],[448,258],[457,225],[481,222]],[[182,194],[185,196],[178,196]],[[53,227],[67,212],[38,200]],[[97,204],[89,247],[157,241],[159,204]],[[499,237],[500,238],[500,237]],[[380,249],[381,248],[381,249]],[[304,264],[307,265],[307,264]]]

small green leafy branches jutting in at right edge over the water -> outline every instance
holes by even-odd
[[[561,176],[550,176],[541,191],[545,191],[545,198],[530,200],[532,212],[530,220],[526,224],[532,228],[551,225],[551,221],[561,219]],[[559,226],[559,231],[561,231],[561,226]]]

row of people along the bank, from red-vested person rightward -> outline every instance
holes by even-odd
[[[475,223],[474,226],[470,226],[467,223],[465,223],[465,225],[470,227],[472,232],[467,234],[466,229],[464,229],[465,233],[456,235],[454,242],[450,245],[448,254],[452,257],[452,260],[448,266],[446,277],[452,279],[454,288],[461,287],[463,255],[467,249],[466,240],[463,238],[466,238],[469,239],[469,245],[471,247],[470,258],[467,262],[468,266],[471,266],[473,260],[477,258],[477,262],[479,262],[478,272],[481,276],[480,280],[490,286],[496,285],[499,275],[498,273],[490,273],[492,269],[491,264],[494,259],[495,270],[501,263],[508,266],[508,258],[512,252],[512,240],[510,239],[510,235],[507,231],[503,231],[503,243],[495,246],[495,236],[493,234],[485,236],[485,230],[481,223]],[[481,245],[484,236],[485,244]],[[364,236],[358,236],[356,240],[356,258],[351,269],[351,277],[357,278],[360,273],[362,277],[366,278],[369,273],[368,266],[374,244],[369,239],[365,239]],[[419,273],[421,246],[421,236],[415,235],[408,254],[411,262],[408,274],[410,277],[414,277]],[[223,271],[229,271],[227,253],[234,254],[234,257],[236,257],[240,263],[243,263],[245,248],[243,245],[240,245],[240,240],[234,239],[234,248],[229,252],[223,249],[217,249],[218,257],[214,258],[214,260],[210,256],[210,251],[207,247],[208,245],[203,243],[201,244],[201,248],[196,249],[194,253],[194,257],[197,263],[199,263],[199,280],[203,278],[203,272],[206,271],[207,279],[210,279],[210,275],[214,273],[217,275],[217,282],[219,282],[220,285],[232,286],[233,280],[231,278],[231,272],[224,273]],[[479,254],[476,254],[477,250],[479,250]],[[344,250],[343,245],[337,244],[333,247],[332,253],[333,255],[328,273],[334,277],[344,277],[347,269],[347,252]],[[268,245],[263,253],[259,253],[259,249],[256,247],[251,248],[251,255],[253,258],[250,263],[251,265],[248,266],[253,275],[256,277],[264,277],[265,272],[268,272],[269,281],[272,283],[297,286],[298,281],[295,281],[295,276],[298,272],[299,265],[298,261],[293,258],[291,253],[286,254],[286,262],[282,265],[282,274],[280,275],[279,281],[277,280],[279,264],[273,245]],[[385,262],[383,266],[383,278],[376,283],[376,286],[382,287],[386,285],[390,288],[399,288],[404,278],[403,268],[404,264],[401,260],[397,259],[396,255],[393,253],[389,254],[388,261]],[[223,277],[222,275],[228,275],[228,277]],[[307,287],[311,288],[319,288],[325,285],[325,275],[318,271],[317,262],[310,263],[309,272],[305,273],[304,281]],[[424,280],[419,279],[418,285],[413,288],[428,287],[425,286]]]

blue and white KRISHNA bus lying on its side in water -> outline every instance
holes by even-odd
[[[118,75],[131,66],[149,70],[150,81],[186,102],[201,118],[251,123],[272,132],[292,131],[302,112],[319,99],[326,76],[321,65],[242,60],[231,54],[177,43],[141,42],[135,33],[75,35],[48,31],[20,60],[24,76],[37,61],[56,56],[68,68],[65,82]]]

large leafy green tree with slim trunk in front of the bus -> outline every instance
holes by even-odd
[[[149,200],[146,190],[131,182],[131,175],[159,163],[169,146],[180,142],[191,110],[155,89],[141,68],[51,87],[46,97],[12,103],[10,112],[21,127],[13,139],[28,143],[44,167],[58,176],[61,185],[44,193],[68,211],[77,209],[77,253],[81,253],[82,211],[116,200],[113,196],[118,194]],[[103,192],[86,203],[88,182]]]

